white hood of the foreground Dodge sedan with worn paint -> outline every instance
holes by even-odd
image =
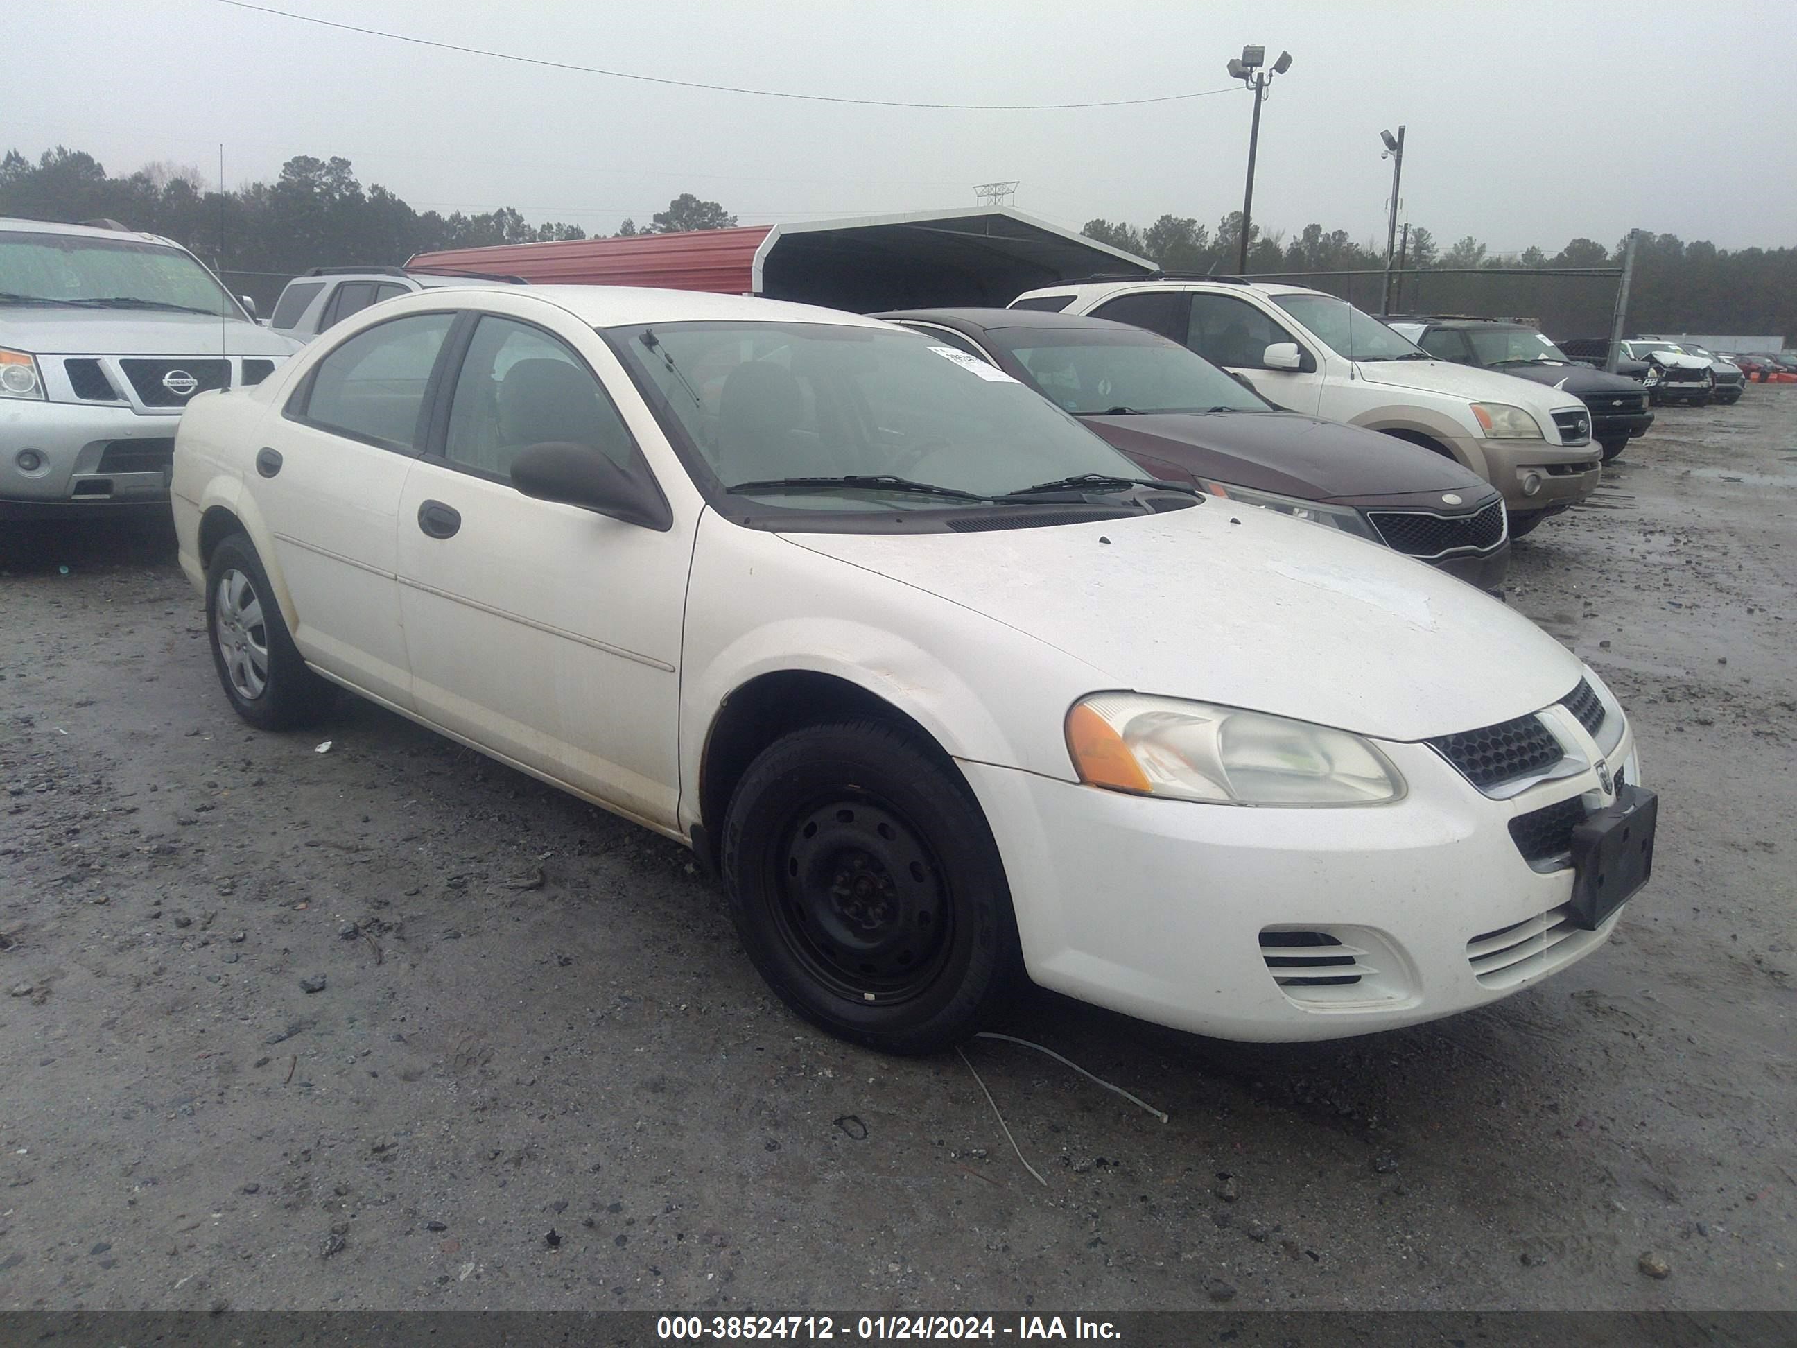
[[[1026,633],[1134,688],[1391,741],[1547,706],[1580,661],[1430,566],[1270,510],[965,534],[785,534]],[[969,652],[978,660],[978,652]]]

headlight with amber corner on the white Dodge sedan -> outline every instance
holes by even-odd
[[[1213,805],[1380,805],[1398,769],[1344,730],[1236,706],[1094,692],[1067,712],[1080,780]]]

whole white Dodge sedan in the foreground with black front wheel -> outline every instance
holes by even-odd
[[[404,297],[196,397],[173,494],[244,719],[341,685],[692,845],[877,1048],[1024,972],[1231,1039],[1425,1021],[1651,865],[1623,708],[1527,620],[873,320]]]

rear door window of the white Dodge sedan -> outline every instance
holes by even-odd
[[[413,455],[424,442],[424,392],[455,315],[424,313],[376,324],[325,356],[289,415],[352,440]]]

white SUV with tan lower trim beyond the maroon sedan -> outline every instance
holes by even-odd
[[[1211,277],[1033,289],[1014,309],[1094,315],[1182,341],[1292,412],[1457,458],[1500,492],[1511,536],[1598,489],[1590,413],[1571,394],[1438,361],[1346,300]]]

